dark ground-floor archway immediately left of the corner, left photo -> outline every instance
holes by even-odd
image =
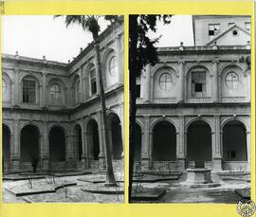
[[[64,129],[60,126],[51,128],[49,132],[49,160],[50,162],[65,160]]]

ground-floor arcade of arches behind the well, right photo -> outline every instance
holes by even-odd
[[[250,134],[241,120],[230,118],[222,126],[217,122],[219,128],[203,118],[187,121],[183,127],[176,124],[182,123],[179,121],[163,118],[152,125],[136,123],[135,161],[142,170],[249,170]]]

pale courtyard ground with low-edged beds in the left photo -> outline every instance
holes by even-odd
[[[121,174],[116,174],[117,180]],[[32,189],[28,187],[28,180],[3,180],[3,203],[123,203],[123,183],[119,187],[104,187],[103,173],[91,173],[85,175],[68,175],[55,177],[55,183],[49,178],[30,179]],[[87,180],[99,180],[99,183],[90,183]],[[74,184],[63,187],[64,184]],[[15,196],[17,192],[42,190],[46,191],[51,187],[58,188],[54,192],[41,192],[33,195]],[[52,189],[52,188],[51,188]],[[98,190],[89,192],[88,190]],[[108,192],[102,193],[102,191]],[[116,193],[119,192],[119,193]]]

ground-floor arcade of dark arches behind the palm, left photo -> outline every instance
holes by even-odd
[[[64,170],[71,165],[69,162],[77,169],[105,167],[102,126],[97,119],[89,119],[86,125],[74,124],[70,133],[61,123],[49,128],[47,134],[43,134],[47,132],[44,126],[33,122],[18,131],[15,124],[14,131],[11,125],[3,124],[3,170],[29,170],[33,161],[38,161],[38,170]],[[107,133],[113,160],[122,160],[122,130],[117,114],[108,116]]]

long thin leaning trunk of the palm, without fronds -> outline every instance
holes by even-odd
[[[99,81],[100,81],[100,96],[101,96],[101,110],[102,110],[102,119],[103,119],[103,137],[105,139],[105,152],[106,152],[106,186],[116,186],[117,182],[115,179],[115,175],[113,172],[112,165],[112,153],[110,148],[110,141],[107,129],[107,119],[106,119],[106,103],[105,103],[105,93],[103,87],[103,78],[102,78],[102,69],[101,69],[101,51],[100,51],[100,42],[99,42],[99,34],[98,32],[93,32],[93,39],[95,43],[95,50],[97,56],[97,65],[98,65],[98,73],[99,73]]]

